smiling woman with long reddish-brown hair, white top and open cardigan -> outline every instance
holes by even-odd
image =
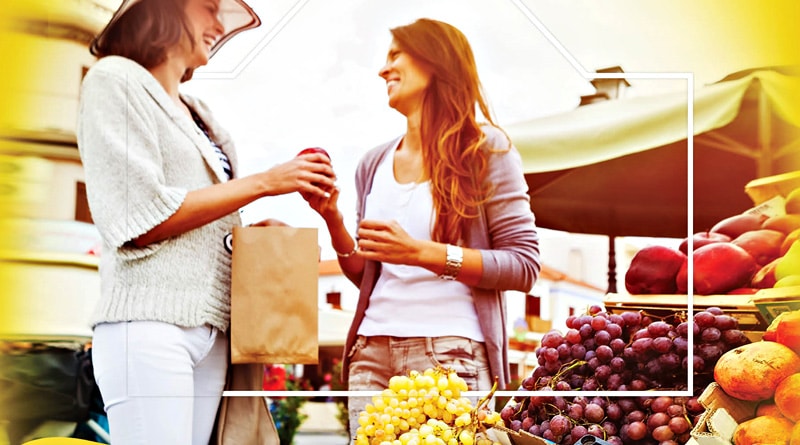
[[[382,390],[393,375],[443,365],[471,390],[488,391],[494,379],[504,388],[502,291],[530,291],[540,271],[520,155],[490,117],[461,31],[419,19],[391,33],[379,75],[406,132],[359,163],[356,239],[338,190],[304,194],[360,288],[344,378],[351,391]],[[368,400],[350,398],[353,437]]]

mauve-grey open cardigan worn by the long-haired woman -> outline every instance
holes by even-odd
[[[487,181],[493,184],[494,194],[481,209],[465,236],[464,246],[481,250],[483,276],[472,288],[478,322],[483,332],[489,367],[505,388],[510,380],[508,366],[508,336],[506,332],[506,302],[502,291],[529,292],[539,277],[539,236],[530,208],[528,185],[522,170],[519,152],[509,150],[505,134],[495,127],[484,126],[487,136],[484,149],[489,150]],[[402,136],[401,136],[402,137]],[[375,147],[361,159],[356,171],[358,221],[364,217],[367,195],[372,188],[375,170],[392,153],[398,139]],[[380,275],[380,263],[368,261],[360,284],[360,293],[353,324],[345,343],[344,381],[348,378],[349,351],[355,344],[358,327],[364,319],[369,297]],[[516,388],[514,388],[516,389]]]

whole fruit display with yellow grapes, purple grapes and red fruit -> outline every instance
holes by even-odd
[[[800,171],[746,191],[754,207],[640,249],[627,292],[542,335],[502,406],[447,369],[410,371],[355,444],[800,444]]]

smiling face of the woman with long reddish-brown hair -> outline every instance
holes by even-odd
[[[421,109],[430,71],[402,51],[394,40],[389,46],[386,64],[378,73],[386,81],[389,106],[405,116]]]

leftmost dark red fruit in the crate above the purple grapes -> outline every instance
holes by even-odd
[[[636,252],[625,272],[625,289],[631,294],[674,294],[675,279],[686,255],[665,246],[647,246]]]

